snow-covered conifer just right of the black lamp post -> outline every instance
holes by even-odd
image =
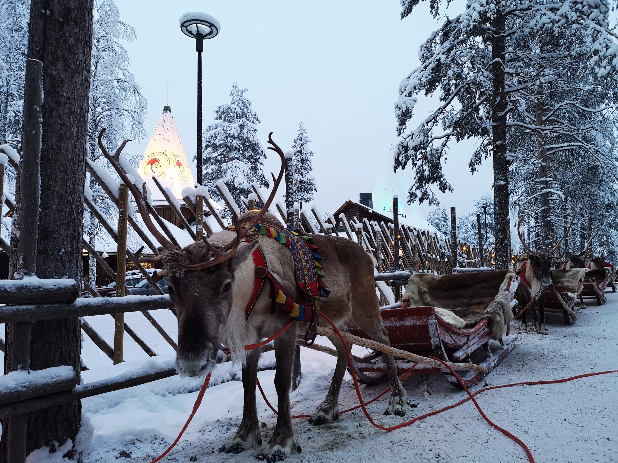
[[[214,185],[222,180],[237,204],[241,204],[240,196],[252,193],[252,183],[269,186],[262,170],[266,152],[257,135],[260,119],[245,93],[247,89],[241,90],[234,82],[231,101],[214,110],[216,122],[204,131],[203,185],[214,199],[221,200]]]

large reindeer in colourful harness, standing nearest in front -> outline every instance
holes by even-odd
[[[273,175],[273,191],[260,212],[247,212],[240,217],[234,214],[234,231],[219,231],[203,238],[201,242],[178,249],[151,221],[145,206],[145,183],[142,186],[143,193],[140,193],[117,162],[124,143],[112,157],[101,143],[102,134],[103,131],[99,134],[101,151],[135,196],[146,227],[166,249],[164,254],[154,258],[142,258],[142,261],[163,262],[164,270],[157,278],[169,275],[169,296],[178,317],[177,372],[192,377],[208,375],[216,365],[220,344],[223,343],[229,348],[232,356],[242,361],[243,365],[243,417],[234,436],[219,452],[240,453],[245,449],[260,446],[260,420],[255,402],[260,349],[245,354],[243,345],[275,335],[289,322],[290,315],[281,307],[272,306],[269,297],[271,282],[265,278],[263,291],[255,301],[250,316],[245,317],[245,307],[252,295],[255,275],[265,270],[263,267],[256,267],[250,258],[253,251],[260,249],[268,265],[268,272],[277,278],[290,297],[295,301],[303,298],[295,280],[294,261],[289,250],[269,238],[258,240],[258,234],[252,233],[252,228],[260,221],[282,227],[279,220],[267,211],[284,175],[284,152],[274,143],[272,133],[269,134],[268,143],[272,146],[268,148],[281,157],[281,172],[277,178]],[[312,243],[320,248],[323,258],[320,264],[331,291],[327,301],[321,304],[320,313],[328,316],[339,328],[344,328],[345,323],[353,320],[373,340],[389,345],[388,333],[380,317],[370,254],[363,251],[357,243],[338,236],[310,236],[313,237]],[[322,324],[327,323],[322,317],[318,319]],[[258,459],[279,461],[291,453],[300,452],[292,427],[289,390],[297,332],[307,330],[307,325],[308,323],[293,323],[274,341],[277,362],[274,384],[279,414],[273,436],[266,448],[258,454]],[[339,391],[347,365],[344,345],[339,338],[329,339],[337,349],[337,365],[326,398],[311,415],[310,423],[316,426],[338,419]],[[387,354],[384,354],[384,361],[392,387],[389,405],[384,414],[403,416],[407,411],[407,404],[404,388],[397,377],[395,361]]]

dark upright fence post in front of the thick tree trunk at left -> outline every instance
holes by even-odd
[[[24,92],[22,162],[19,173],[21,202],[19,214],[21,233],[18,246],[19,278],[36,275],[36,246],[41,197],[41,135],[43,133],[43,63],[39,60],[26,60]],[[11,371],[30,369],[31,327],[30,322],[14,323],[11,327]],[[9,418],[7,457],[11,463],[26,461],[27,424],[27,414]]]

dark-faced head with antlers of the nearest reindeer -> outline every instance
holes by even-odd
[[[202,242],[178,249],[163,236],[151,220],[146,206],[148,199],[146,184],[142,185],[143,193],[140,193],[117,161],[126,141],[112,157],[103,147],[101,135],[103,135],[103,131],[99,134],[101,151],[135,197],[146,227],[167,250],[157,257],[140,257],[140,262],[163,263],[163,271],[153,275],[155,281],[169,275],[169,297],[174,304],[178,317],[176,370],[181,375],[187,376],[207,375],[216,365],[216,356],[221,341],[231,344],[227,347],[232,350],[240,349],[242,351],[242,342],[239,341],[239,336],[234,336],[234,333],[242,332],[242,327],[229,327],[228,323],[231,320],[230,314],[232,307],[234,307],[235,296],[238,298],[239,294],[247,291],[244,287],[247,285],[237,284],[242,279],[242,275],[239,275],[239,267],[249,259],[253,250],[260,244],[259,240],[250,239],[255,238],[255,234],[252,235],[251,230],[268,211],[277,187],[281,183],[285,173],[284,153],[274,143],[271,132],[268,135],[268,143],[272,144],[274,148],[268,148],[276,151],[281,157],[281,171],[279,177],[274,178],[273,175],[273,191],[261,211],[250,212],[242,216],[243,222],[249,222],[246,227],[241,227],[239,217],[234,214],[234,231],[223,230],[208,238],[203,238]],[[142,249],[137,251],[138,257]],[[253,268],[243,275],[251,278],[249,285],[252,285]],[[242,316],[236,317],[236,320],[244,323]]]

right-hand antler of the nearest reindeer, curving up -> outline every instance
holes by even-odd
[[[222,262],[226,262],[227,260],[231,259],[232,257],[234,257],[234,254],[236,254],[236,251],[240,246],[240,241],[242,241],[242,239],[247,236],[248,233],[250,233],[252,228],[255,227],[255,224],[260,222],[262,217],[264,217],[264,214],[268,212],[268,207],[271,205],[271,202],[273,202],[274,196],[277,194],[277,188],[279,188],[281,179],[286,172],[286,156],[283,150],[279,148],[276,143],[274,143],[272,135],[273,132],[268,134],[268,143],[272,144],[274,148],[271,148],[269,146],[268,149],[272,149],[277,154],[279,154],[279,157],[281,157],[281,170],[279,171],[279,177],[274,180],[273,191],[271,191],[271,194],[270,196],[268,196],[268,199],[262,206],[261,211],[258,212],[254,219],[245,228],[240,228],[239,217],[234,213],[234,211],[232,211],[232,221],[234,222],[234,228],[236,230],[236,238],[234,238],[234,241],[230,241],[230,243],[228,243],[221,251],[221,249],[217,249],[212,244],[210,244],[206,236],[203,236],[202,240],[204,241],[204,244],[206,244],[206,248],[208,248],[208,250],[213,253],[213,259],[195,265],[179,264],[180,267],[185,270],[201,270],[206,269],[207,267],[213,267],[213,265],[221,264]]]

